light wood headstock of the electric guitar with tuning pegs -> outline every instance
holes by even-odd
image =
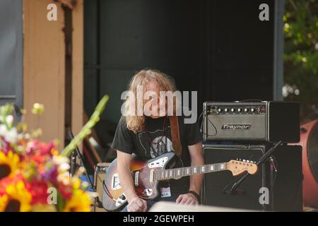
[[[253,161],[249,160],[230,160],[226,162],[226,169],[230,170],[233,176],[248,172],[249,174],[256,174],[258,167]]]

